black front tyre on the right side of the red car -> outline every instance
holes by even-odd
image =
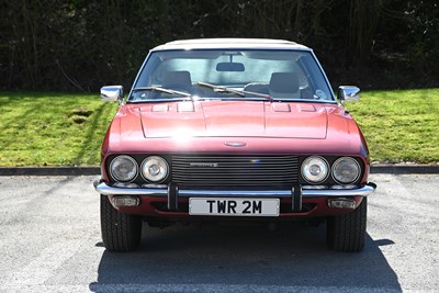
[[[327,218],[327,244],[336,251],[357,252],[364,247],[368,198],[351,213]]]

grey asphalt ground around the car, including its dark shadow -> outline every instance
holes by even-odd
[[[97,177],[0,177],[0,292],[439,292],[439,174],[373,174],[367,247],[325,227],[144,229],[102,246]]]

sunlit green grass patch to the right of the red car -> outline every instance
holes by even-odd
[[[372,161],[439,164],[439,89],[363,92],[347,109]]]

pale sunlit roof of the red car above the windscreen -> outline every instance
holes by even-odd
[[[196,38],[166,43],[151,50],[167,49],[302,49],[311,50],[301,44],[270,38]]]

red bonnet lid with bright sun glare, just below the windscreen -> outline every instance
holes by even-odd
[[[206,101],[134,109],[145,138],[285,137],[324,139],[326,108],[312,103]]]

